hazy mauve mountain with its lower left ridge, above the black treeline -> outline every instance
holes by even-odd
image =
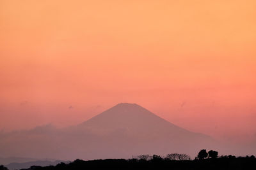
[[[73,127],[46,125],[0,136],[0,153],[6,157],[108,159],[175,152],[194,157],[202,148],[215,149],[216,141],[128,103],[117,104]]]

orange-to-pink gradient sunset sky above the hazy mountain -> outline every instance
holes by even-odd
[[[65,127],[137,103],[191,131],[256,139],[255,9],[0,0],[0,131]]]

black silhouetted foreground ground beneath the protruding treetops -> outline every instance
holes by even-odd
[[[1,168],[0,168],[1,169]],[[69,164],[57,166],[32,166],[33,170],[48,169],[256,169],[255,157],[220,157],[204,160],[168,160],[168,159],[105,159],[75,160]],[[27,169],[28,170],[28,169]]]

